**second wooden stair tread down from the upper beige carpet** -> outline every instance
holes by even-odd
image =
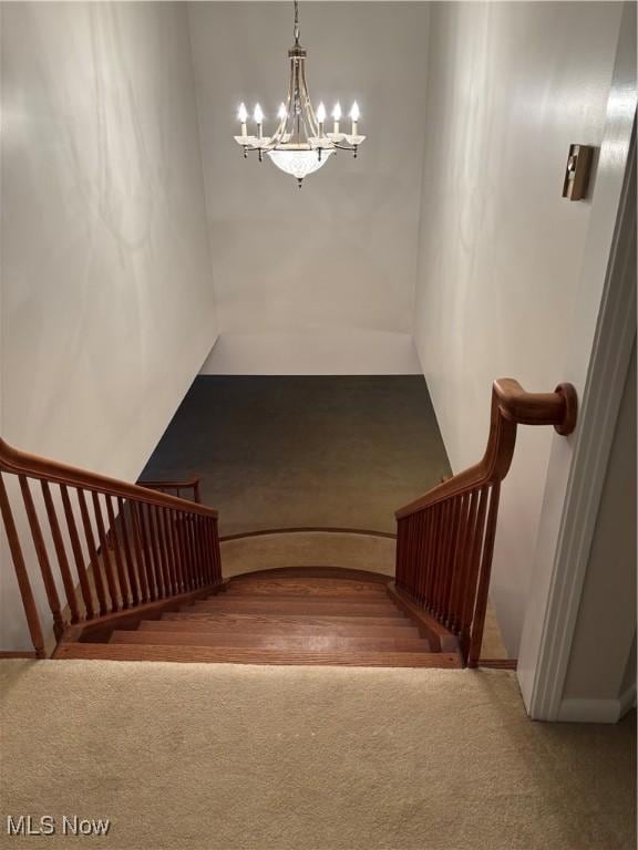
[[[223,646],[279,650],[280,652],[344,652],[346,650],[373,650],[390,652],[429,652],[430,645],[422,638],[374,638],[361,634],[260,634],[258,632],[164,632],[115,631],[110,643],[135,643],[169,646]]]

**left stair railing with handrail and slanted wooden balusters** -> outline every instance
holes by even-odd
[[[45,641],[31,560],[58,640],[69,624],[134,613],[222,582],[217,511],[19,452],[2,439],[0,515],[38,657],[45,656]]]

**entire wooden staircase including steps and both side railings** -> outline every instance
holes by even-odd
[[[481,649],[501,481],[517,425],[553,425],[567,435],[576,414],[570,384],[526,393],[512,379],[495,381],[480,463],[397,511],[394,581],[329,568],[224,580],[217,511],[200,504],[197,479],[128,484],[0,439],[0,517],[33,654],[400,667],[490,663]],[[186,493],[192,499],[183,498]]]

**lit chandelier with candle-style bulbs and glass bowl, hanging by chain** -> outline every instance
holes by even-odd
[[[286,102],[281,103],[277,113],[277,128],[271,136],[264,134],[266,116],[257,104],[253,113],[257,134],[248,135],[248,111],[241,103],[237,114],[241,134],[235,136],[245,158],[249,153],[257,152],[259,162],[263,162],[264,153],[268,154],[278,168],[297,178],[299,188],[303,185],[303,178],[321,168],[336,151],[350,151],[357,157],[359,145],[366,139],[366,136],[359,135],[360,113],[357,101],[350,110],[350,133],[341,132],[342,113],[339,103],[332,110],[332,132],[326,132],[326,107],[320,103],[315,111],[308,94],[306,56],[307,51],[299,44],[299,2],[295,0],[295,45],[288,51],[290,82]]]

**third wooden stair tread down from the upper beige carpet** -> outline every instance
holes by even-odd
[[[361,619],[361,618],[360,618]],[[359,625],[358,623],[264,623],[245,621],[210,622],[208,620],[144,620],[140,632],[205,632],[213,634],[342,634],[367,635],[372,638],[420,638],[415,626],[403,623],[398,625]]]

